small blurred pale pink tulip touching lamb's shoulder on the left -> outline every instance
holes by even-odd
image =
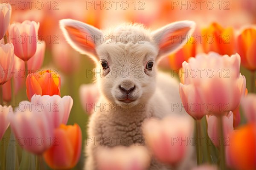
[[[93,113],[94,106],[99,98],[99,91],[95,84],[81,85],[79,88],[79,94],[84,111],[88,114]]]

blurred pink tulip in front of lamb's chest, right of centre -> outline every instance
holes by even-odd
[[[170,116],[149,119],[143,126],[146,144],[161,162],[177,166],[187,154],[193,122],[188,117]]]

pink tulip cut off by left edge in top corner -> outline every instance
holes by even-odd
[[[12,8],[9,3],[0,3],[0,40],[6,34],[10,23]]]

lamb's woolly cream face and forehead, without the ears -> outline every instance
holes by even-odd
[[[99,55],[97,81],[102,94],[119,106],[145,103],[156,88],[157,47],[141,43],[103,43]]]

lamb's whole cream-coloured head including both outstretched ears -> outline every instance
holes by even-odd
[[[102,95],[118,105],[145,103],[156,88],[156,63],[186,42],[195,23],[181,21],[156,31],[125,24],[101,31],[86,23],[65,19],[60,26],[67,42],[96,62]]]

